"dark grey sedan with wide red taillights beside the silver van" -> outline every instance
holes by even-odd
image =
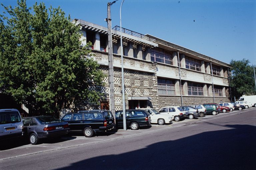
[[[52,138],[65,135],[70,131],[67,122],[62,122],[52,116],[25,117],[23,120],[24,135],[32,145],[42,138]]]

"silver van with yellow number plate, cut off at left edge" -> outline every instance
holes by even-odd
[[[0,141],[23,135],[23,124],[17,109],[0,109]]]

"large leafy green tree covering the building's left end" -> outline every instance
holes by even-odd
[[[103,73],[81,47],[79,27],[60,8],[44,3],[28,8],[18,0],[0,15],[0,92],[25,103],[32,113],[58,115],[77,99],[97,103]],[[3,5],[2,5],[3,6]]]

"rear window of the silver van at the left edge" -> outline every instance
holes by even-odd
[[[0,112],[0,124],[17,123],[21,118],[17,111],[5,111]]]

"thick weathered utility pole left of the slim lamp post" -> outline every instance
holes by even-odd
[[[116,1],[108,3],[108,75],[109,75],[109,96],[110,96],[110,110],[115,117],[115,90],[114,90],[114,66],[113,66],[113,47],[112,47],[112,26],[111,26],[111,13],[110,6]]]

